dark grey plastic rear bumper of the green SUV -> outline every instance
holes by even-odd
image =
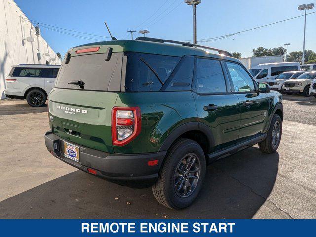
[[[146,154],[110,154],[78,144],[80,163],[66,158],[63,155],[64,140],[51,131],[45,134],[45,145],[48,151],[56,158],[70,164],[80,170],[88,172],[88,168],[97,171],[97,176],[114,181],[116,183],[135,186],[142,182],[140,186],[150,186],[158,178],[163,159],[167,151],[146,153]],[[57,148],[54,149],[54,144]],[[148,161],[158,160],[156,166],[148,166]]]

